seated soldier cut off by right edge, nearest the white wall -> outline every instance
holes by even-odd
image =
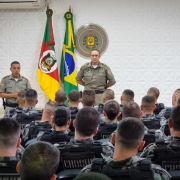
[[[180,89],[176,89],[176,91],[172,96],[172,107],[177,106],[179,98],[180,98]],[[171,116],[172,107],[165,107],[165,109],[161,110],[158,116],[169,119]]]

